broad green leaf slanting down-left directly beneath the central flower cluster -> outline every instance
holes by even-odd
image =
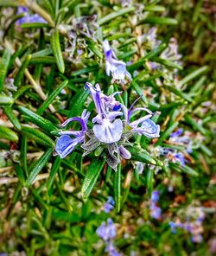
[[[88,198],[91,194],[95,183],[98,180],[98,176],[105,165],[105,159],[98,160],[94,158],[92,163],[89,165],[88,170],[86,170],[86,176],[82,184],[82,196],[83,198]]]

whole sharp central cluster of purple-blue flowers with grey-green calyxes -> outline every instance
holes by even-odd
[[[121,158],[130,159],[129,139],[134,134],[144,135],[147,138],[158,138],[160,126],[156,125],[150,118],[153,112],[144,107],[134,108],[134,104],[127,109],[115,96],[120,92],[107,96],[100,86],[92,86],[86,83],[86,90],[92,96],[97,115],[92,118],[92,129],[87,126],[90,112],[86,110],[81,117],[69,118],[61,126],[65,127],[72,121],[78,121],[81,131],[60,131],[55,150],[63,158],[70,154],[77,144],[85,150],[84,155],[92,151],[105,152],[106,162],[112,169],[116,170]],[[136,103],[136,102],[135,102]],[[138,112],[148,114],[134,119]],[[73,138],[71,138],[73,136]],[[96,155],[99,155],[98,153]]]

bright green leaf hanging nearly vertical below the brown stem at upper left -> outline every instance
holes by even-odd
[[[65,72],[65,63],[63,60],[63,56],[60,49],[60,33],[59,29],[54,29],[54,31],[51,34],[51,46],[54,53],[54,58],[57,64],[57,67],[59,68],[60,73]]]

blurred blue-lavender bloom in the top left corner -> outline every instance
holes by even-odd
[[[41,22],[47,23],[41,16],[38,14],[31,15],[27,7],[19,6],[17,10],[17,15],[24,14],[24,16],[16,21],[16,25],[22,25],[23,23],[34,23]]]

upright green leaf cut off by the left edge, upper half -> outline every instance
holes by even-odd
[[[10,50],[5,49],[3,51],[3,57],[0,59],[0,92],[3,90],[4,80],[8,74],[10,55]]]

